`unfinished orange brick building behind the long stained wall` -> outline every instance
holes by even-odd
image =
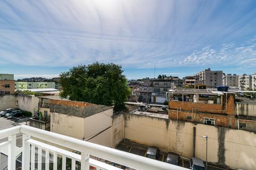
[[[205,89],[174,89],[168,92],[169,118],[236,128],[235,95]]]

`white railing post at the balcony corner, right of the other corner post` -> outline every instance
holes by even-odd
[[[30,169],[30,144],[27,140],[30,139],[30,135],[23,134],[22,137],[22,170]]]

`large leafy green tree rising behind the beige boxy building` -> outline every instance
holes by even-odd
[[[114,111],[125,109],[130,95],[122,67],[114,63],[79,65],[60,74],[61,97],[94,104],[114,105]]]

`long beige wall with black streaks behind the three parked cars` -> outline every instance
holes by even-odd
[[[255,133],[137,114],[125,116],[125,138],[187,158],[193,156],[193,127],[196,127],[196,157],[205,160],[203,135],[208,135],[209,162],[256,169]]]

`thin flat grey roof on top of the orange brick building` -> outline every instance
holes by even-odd
[[[221,91],[212,91],[208,89],[195,89],[195,88],[174,88],[167,93],[171,94],[202,94],[202,95],[223,95]]]

